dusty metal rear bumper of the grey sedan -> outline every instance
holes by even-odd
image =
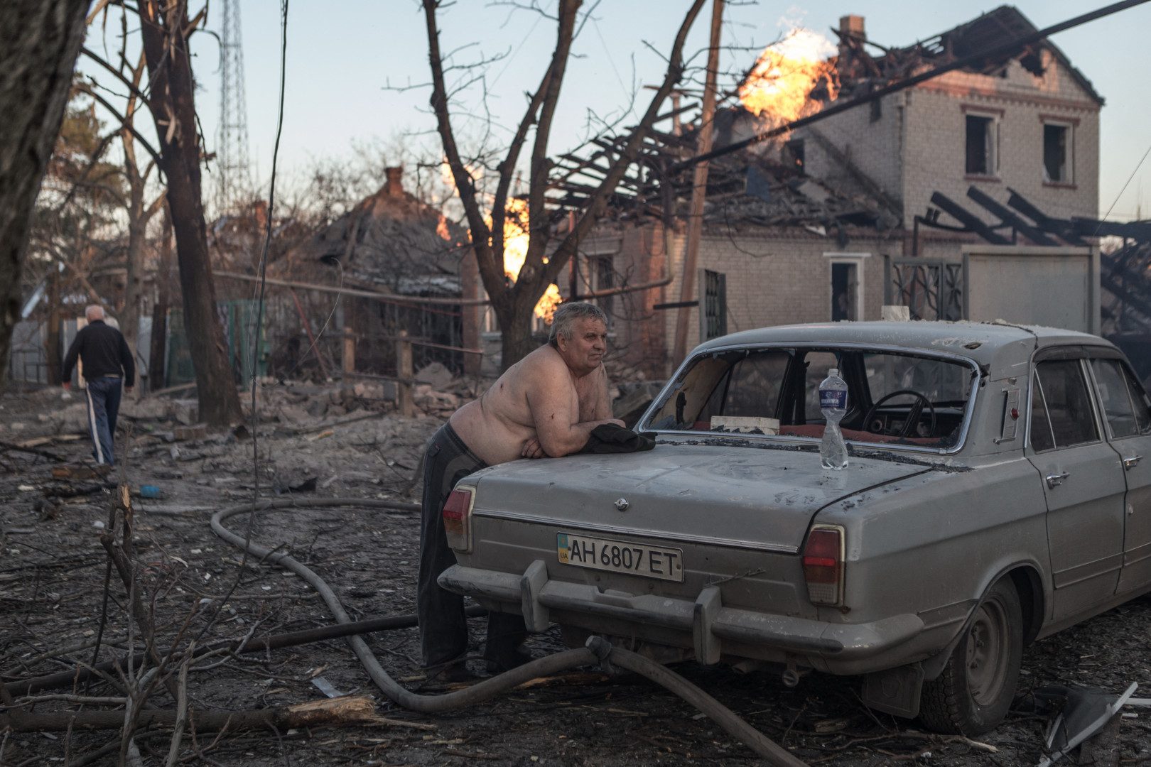
[[[826,661],[821,666],[845,661],[854,666],[914,639],[924,629],[920,616],[913,614],[870,623],[829,623],[724,607],[718,586],[703,589],[694,603],[654,595],[603,593],[594,585],[548,580],[540,560],[523,575],[455,565],[439,582],[455,593],[519,607],[533,631],[547,629],[554,609],[686,632],[692,637],[696,659],[704,664],[718,662],[723,641],[729,639],[821,658]]]

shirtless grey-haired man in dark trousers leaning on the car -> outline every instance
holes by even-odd
[[[592,304],[561,305],[548,345],[508,368],[479,399],[456,411],[428,443],[417,585],[424,666],[453,661],[467,650],[464,598],[436,583],[456,563],[442,516],[456,483],[487,466],[579,452],[601,423],[624,425],[610,417],[603,369],[607,320]],[[527,660],[517,651],[524,636],[523,618],[491,613],[483,650],[489,670]]]

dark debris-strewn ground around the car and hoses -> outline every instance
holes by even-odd
[[[391,412],[382,388],[303,384],[261,390],[258,450],[261,496],[296,507],[257,514],[254,540],[290,552],[335,590],[353,620],[409,614],[416,607],[418,514],[364,507],[310,508],[315,498],[418,501],[412,477],[426,439],[475,386],[440,381],[417,391],[418,417]],[[14,682],[91,664],[100,631],[108,555],[107,532],[120,469],[85,477],[89,443],[82,400],[60,390],[8,391],[0,398],[0,440],[35,452],[0,448],[0,673]],[[132,498],[131,550],[139,590],[154,621],[155,644],[198,645],[261,637],[334,622],[314,589],[279,566],[250,560],[239,576],[238,550],[208,526],[212,513],[252,498],[252,440],[241,432],[174,439],[188,402],[145,399],[125,405],[117,445],[130,427],[124,483],[160,489]],[[192,414],[193,416],[195,414]],[[82,435],[76,438],[75,435]],[[124,458],[124,457],[122,457]],[[73,467],[73,476],[60,467]],[[296,490],[291,490],[296,488]],[[229,520],[243,534],[249,515]],[[235,592],[224,599],[235,585]],[[211,601],[204,603],[204,599]],[[142,646],[130,623],[128,595],[113,569],[99,660]],[[193,614],[193,607],[196,608]],[[473,619],[479,654],[483,620]],[[1121,692],[1151,684],[1148,637],[1151,599],[1141,598],[1024,652],[1020,689],[1083,684]],[[384,669],[410,689],[435,693],[456,685],[419,668],[416,629],[365,637]],[[563,649],[558,629],[533,637],[536,657]],[[479,661],[470,667],[483,674]],[[145,666],[145,670],[147,666]],[[599,668],[538,680],[470,708],[421,715],[390,704],[343,639],[281,650],[216,655],[190,666],[186,700],[196,712],[249,711],[323,699],[317,681],[342,693],[375,698],[391,723],[277,729],[229,728],[185,736],[177,764],[191,765],[692,765],[756,764],[759,758],[670,692],[634,675]],[[1045,715],[1013,712],[976,741],[929,735],[914,722],[869,712],[861,680],[806,676],[788,689],[778,676],[740,675],[727,667],[676,667],[799,759],[815,765],[921,764],[954,767],[1023,766],[1044,754]],[[120,669],[123,672],[123,669]],[[122,711],[125,681],[112,672],[91,684],[35,693],[29,716],[66,711]],[[1136,692],[1136,696],[1146,695]],[[100,698],[101,703],[81,700]],[[17,703],[28,698],[17,698]],[[146,707],[173,710],[158,684]],[[1067,764],[1151,761],[1151,710],[1114,719]],[[1145,713],[1144,713],[1145,712]],[[144,728],[135,744],[143,765],[162,765],[170,727]],[[0,735],[0,765],[116,764],[115,729]],[[113,752],[97,756],[114,747]],[[102,751],[101,751],[102,750]],[[129,762],[135,753],[129,752]]]

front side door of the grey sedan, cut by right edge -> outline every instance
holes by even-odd
[[[1151,406],[1127,363],[1092,359],[1107,439],[1119,454],[1127,485],[1123,568],[1119,592],[1151,584]],[[1146,459],[1146,460],[1145,460]]]

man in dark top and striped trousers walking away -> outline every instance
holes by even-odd
[[[131,391],[136,363],[123,335],[104,322],[104,308],[90,306],[84,312],[87,325],[76,333],[64,355],[64,389],[71,389],[71,370],[79,359],[87,382],[87,428],[92,434],[92,457],[97,463],[114,463],[112,438],[120,412],[120,384]]]

